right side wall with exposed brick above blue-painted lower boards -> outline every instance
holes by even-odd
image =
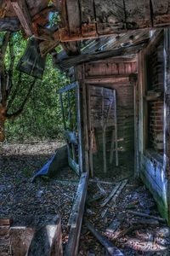
[[[161,215],[168,218],[167,175],[163,165],[163,156],[158,150],[160,141],[157,140],[157,133],[155,133],[156,128],[161,127],[158,133],[162,150],[162,121],[165,110],[162,108],[162,99],[158,98],[155,102],[148,102],[145,97],[148,90],[161,91],[163,94],[165,81],[162,75],[164,73],[162,55],[162,38],[159,40],[155,38],[153,44],[139,53],[139,154],[140,177],[154,196]],[[158,123],[159,118],[161,118],[161,123]],[[151,130],[150,125],[152,125]],[[151,143],[148,143],[149,141]]]

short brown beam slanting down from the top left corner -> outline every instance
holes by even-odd
[[[33,34],[32,23],[31,23],[31,15],[26,6],[25,0],[11,0],[11,4],[14,8],[16,15],[18,16],[21,25],[23,26],[26,35],[31,37]]]

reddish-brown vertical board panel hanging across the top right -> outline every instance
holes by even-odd
[[[61,15],[68,20],[59,31],[61,41],[95,38],[129,30],[170,24],[170,0],[65,0]]]

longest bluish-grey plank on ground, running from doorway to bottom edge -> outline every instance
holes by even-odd
[[[69,232],[68,243],[65,248],[65,255],[75,256],[78,253],[78,244],[82,228],[82,217],[86,201],[88,189],[88,173],[82,173],[80,183],[78,184],[77,195],[71,210],[71,217],[69,218],[69,225],[71,230]]]

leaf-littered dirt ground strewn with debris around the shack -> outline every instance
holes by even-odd
[[[37,178],[35,183],[31,183],[33,173],[61,145],[62,142],[0,146],[0,218],[13,218],[13,225],[41,226],[59,214],[65,248],[69,232],[67,222],[79,180],[77,174],[65,168],[56,177]],[[127,182],[120,195],[102,207],[116,184],[125,180]],[[99,200],[95,201],[96,195],[99,195]],[[147,218],[137,217],[129,211],[160,217],[149,191],[143,183],[133,179],[132,166],[119,166],[113,177],[99,176],[90,180],[79,255],[109,255],[87,229],[86,221],[93,224],[124,255],[170,255],[170,230],[167,225],[154,219],[147,222]]]

